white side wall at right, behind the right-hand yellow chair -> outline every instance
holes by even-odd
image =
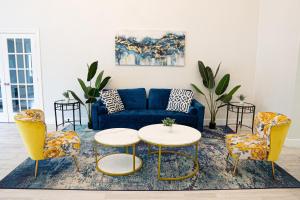
[[[299,96],[299,88],[296,92],[300,59],[299,11],[299,0],[260,1],[255,74],[258,110],[284,113],[294,120],[293,126],[300,122],[294,104],[295,95]],[[300,134],[292,128],[288,137],[300,138]]]

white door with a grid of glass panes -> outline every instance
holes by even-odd
[[[43,107],[36,34],[0,34],[0,121]]]

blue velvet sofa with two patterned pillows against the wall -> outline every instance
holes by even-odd
[[[146,96],[145,88],[119,89],[125,110],[107,114],[101,100],[92,105],[92,124],[95,130],[108,128],[140,129],[150,124],[161,123],[166,117],[176,119],[177,124],[203,130],[204,106],[192,100],[189,113],[166,111],[171,89],[150,89]]]

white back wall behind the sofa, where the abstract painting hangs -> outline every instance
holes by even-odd
[[[46,117],[66,89],[80,92],[76,77],[99,60],[109,87],[178,87],[200,84],[197,60],[231,73],[232,85],[253,100],[258,0],[0,0],[0,28],[38,28]],[[116,67],[114,36],[119,30],[186,32],[182,68]],[[208,118],[208,116],[206,116]],[[223,116],[220,116],[223,118]]]

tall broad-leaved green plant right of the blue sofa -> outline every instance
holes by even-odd
[[[232,95],[241,87],[240,85],[232,88],[228,93],[226,92],[230,81],[230,74],[225,74],[218,83],[216,77],[218,75],[221,63],[219,64],[215,73],[208,66],[205,66],[202,61],[198,61],[199,72],[202,78],[202,83],[207,90],[207,94],[202,92],[195,84],[191,84],[193,88],[204,96],[210,112],[210,128],[216,128],[216,116],[219,108],[224,103],[229,103]]]

